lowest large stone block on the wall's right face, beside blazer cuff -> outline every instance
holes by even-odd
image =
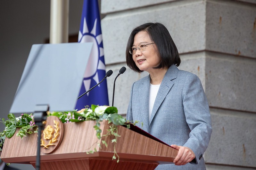
[[[206,163],[256,167],[256,115],[211,109],[212,134]]]

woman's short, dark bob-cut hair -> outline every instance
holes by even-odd
[[[154,45],[156,45],[158,49],[158,55],[160,55],[160,64],[159,66],[155,67],[155,69],[161,69],[165,67],[169,68],[172,64],[175,64],[177,67],[179,66],[180,57],[178,54],[178,49],[172,40],[169,31],[163,24],[159,22],[150,22],[134,28],[130,34],[126,46],[126,63],[130,69],[139,73],[143,72],[136,66],[132,59],[132,54],[129,53],[129,49],[133,45],[134,36],[140,31],[146,31],[150,39],[155,42]]]

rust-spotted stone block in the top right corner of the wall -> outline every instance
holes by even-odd
[[[206,14],[207,50],[256,58],[255,5],[207,1]]]

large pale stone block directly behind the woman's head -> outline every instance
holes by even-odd
[[[134,27],[145,22],[158,21],[165,24],[179,53],[204,50],[205,5],[204,1],[199,1],[108,14],[101,21],[105,63],[125,62],[129,34]]]

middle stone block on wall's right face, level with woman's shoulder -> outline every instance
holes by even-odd
[[[256,60],[206,53],[205,92],[211,107],[256,112]]]

